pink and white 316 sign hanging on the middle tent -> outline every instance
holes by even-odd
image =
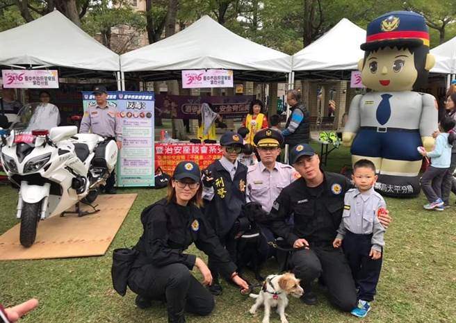
[[[233,88],[233,71],[188,69],[182,71],[182,88]]]

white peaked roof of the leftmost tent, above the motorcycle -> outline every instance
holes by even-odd
[[[118,71],[119,56],[55,10],[0,33],[0,65]]]

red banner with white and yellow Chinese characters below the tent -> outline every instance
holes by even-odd
[[[155,144],[155,167],[161,167],[163,172],[170,175],[182,160],[193,160],[199,168],[204,169],[221,157],[220,144]]]

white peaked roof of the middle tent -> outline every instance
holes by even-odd
[[[232,33],[205,15],[164,40],[120,56],[123,72],[237,69],[291,72],[291,56]]]

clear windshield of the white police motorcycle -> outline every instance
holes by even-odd
[[[60,123],[58,108],[52,103],[29,103],[18,113],[19,122],[13,124],[15,132],[50,130]]]

